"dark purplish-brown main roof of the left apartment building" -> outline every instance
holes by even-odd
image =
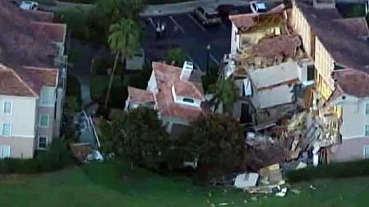
[[[37,13],[25,12],[9,1],[0,1],[0,62],[13,66],[53,67],[57,53],[54,33],[33,31]],[[64,34],[64,33],[63,33]]]

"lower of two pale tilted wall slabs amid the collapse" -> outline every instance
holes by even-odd
[[[268,108],[280,104],[292,103],[293,85],[281,85],[272,89],[257,91],[254,89],[252,102],[258,109]]]

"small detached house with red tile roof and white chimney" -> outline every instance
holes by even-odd
[[[179,134],[206,111],[200,74],[187,61],[182,68],[160,62],[153,62],[152,68],[146,90],[128,87],[125,110],[152,107],[158,110],[167,132]]]

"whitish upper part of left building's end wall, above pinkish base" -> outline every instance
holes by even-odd
[[[12,102],[12,113],[3,114],[4,101]],[[13,136],[34,137],[36,120],[36,99],[0,95],[0,123],[11,123]]]

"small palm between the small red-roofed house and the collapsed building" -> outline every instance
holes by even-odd
[[[210,86],[211,93],[214,93],[216,108],[222,104],[223,111],[232,113],[233,105],[239,97],[239,89],[232,78],[218,81]]]

